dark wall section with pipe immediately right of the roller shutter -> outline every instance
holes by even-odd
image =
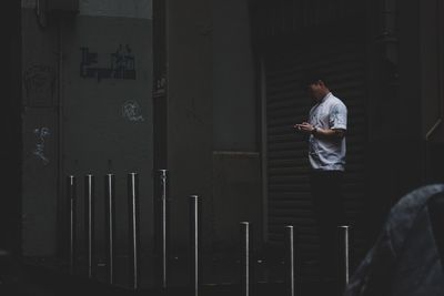
[[[375,238],[390,207],[418,186],[423,174],[421,86],[415,82],[420,80],[420,22],[415,1],[400,3],[393,14],[369,2],[367,204]],[[396,25],[384,28],[386,16]],[[391,34],[384,38],[384,32]]]

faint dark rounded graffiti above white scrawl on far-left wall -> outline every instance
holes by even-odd
[[[32,65],[24,71],[24,91],[31,106],[51,106],[54,95],[56,73],[48,65]]]

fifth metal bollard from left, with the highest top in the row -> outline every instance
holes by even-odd
[[[161,285],[168,286],[168,252],[169,252],[169,204],[168,204],[168,170],[159,170],[160,175],[160,198],[159,202],[159,251],[161,253]]]

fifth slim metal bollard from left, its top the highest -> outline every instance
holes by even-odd
[[[167,288],[168,284],[168,229],[169,229],[169,212],[168,212],[168,200],[167,200],[167,177],[168,171],[160,170],[160,180],[161,180],[161,251],[162,251],[162,288]]]

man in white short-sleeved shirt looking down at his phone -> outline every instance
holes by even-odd
[[[345,170],[347,109],[334,96],[324,76],[312,74],[303,82],[315,101],[309,121],[294,129],[309,135],[311,190],[321,243],[321,275],[325,284],[337,287],[337,226],[345,222],[341,194]],[[333,294],[331,294],[333,295]]]

